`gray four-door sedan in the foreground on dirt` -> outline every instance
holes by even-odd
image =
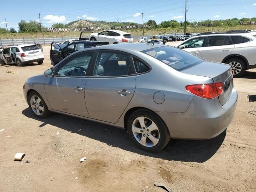
[[[57,112],[124,128],[148,152],[171,138],[218,136],[237,103],[229,65],[145,43],[75,52],[29,78],[23,92],[36,118]]]

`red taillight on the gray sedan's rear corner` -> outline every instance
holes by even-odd
[[[211,84],[188,85],[186,86],[186,90],[199,97],[213,99],[222,94],[223,84],[222,82],[218,82]]]

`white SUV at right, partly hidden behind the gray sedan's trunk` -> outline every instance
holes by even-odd
[[[256,38],[250,32],[195,36],[176,47],[206,60],[230,64],[234,77],[256,68]]]

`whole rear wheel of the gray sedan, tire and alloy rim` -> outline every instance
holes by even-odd
[[[166,124],[150,110],[140,109],[133,112],[128,119],[127,127],[136,145],[148,152],[158,152],[170,141]]]

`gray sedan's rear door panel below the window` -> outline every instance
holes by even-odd
[[[130,94],[122,94],[120,91]],[[116,123],[132,99],[134,91],[135,76],[88,78],[85,100],[90,118]]]

